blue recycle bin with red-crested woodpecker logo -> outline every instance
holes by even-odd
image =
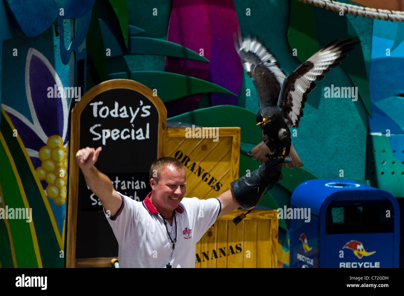
[[[400,210],[387,191],[309,180],[293,191],[291,210],[290,267],[398,267]]]

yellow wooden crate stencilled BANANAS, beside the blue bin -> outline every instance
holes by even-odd
[[[252,210],[238,225],[235,210],[219,218],[196,244],[195,267],[267,268],[278,265],[278,212]]]

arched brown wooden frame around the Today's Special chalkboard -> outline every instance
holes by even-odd
[[[66,267],[112,267],[111,260],[114,257],[82,258],[76,259],[76,231],[77,231],[77,206],[78,206],[78,176],[79,166],[76,162],[76,152],[80,149],[80,116],[87,104],[98,94],[115,88],[127,88],[135,90],[153,103],[158,112],[158,147],[156,158],[164,155],[166,145],[167,109],[161,99],[147,86],[128,79],[113,79],[102,82],[88,90],[76,103],[72,110],[70,128],[70,156],[69,156],[69,195],[67,199],[67,247]]]

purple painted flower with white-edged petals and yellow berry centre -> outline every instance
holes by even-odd
[[[70,103],[55,69],[38,50],[29,48],[25,92],[31,120],[2,104],[27,149],[46,195],[63,205],[67,194]]]

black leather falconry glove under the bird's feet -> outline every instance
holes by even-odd
[[[230,183],[231,193],[233,193],[240,207],[244,210],[249,210],[247,214],[259,204],[268,185],[271,185],[269,188],[271,189],[276,182],[282,180],[282,166],[280,164],[291,161],[290,157],[274,158],[251,172],[250,176],[242,176]],[[246,217],[245,215],[241,214],[234,218],[233,222],[237,225]]]

